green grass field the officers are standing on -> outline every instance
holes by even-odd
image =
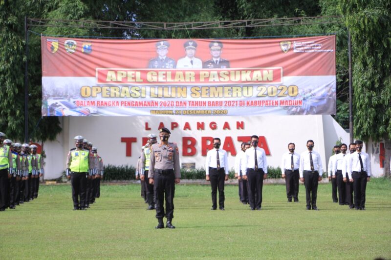
[[[374,259],[391,258],[391,181],[371,180],[366,211],[331,201],[287,203],[284,185],[265,185],[261,211],[225,187],[225,211],[211,211],[210,186],[177,185],[173,223],[155,230],[140,185],[101,186],[87,211],[72,211],[69,185],[40,187],[37,200],[0,212],[0,259]]]

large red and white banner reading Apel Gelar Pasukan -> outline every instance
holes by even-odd
[[[43,116],[336,113],[335,36],[41,43]]]

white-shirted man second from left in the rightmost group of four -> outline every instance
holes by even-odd
[[[343,143],[339,146],[340,153],[335,154],[330,157],[332,160],[332,175],[335,176],[337,180],[337,189],[338,189],[338,201],[340,205],[348,205],[349,203],[346,200],[346,183],[344,182],[344,176],[346,176],[346,163],[345,159],[347,158],[348,146]],[[332,159],[331,159],[332,158]]]

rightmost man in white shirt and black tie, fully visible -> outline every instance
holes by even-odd
[[[367,181],[370,180],[369,155],[362,151],[363,141],[356,140],[356,151],[349,156],[348,176],[353,181],[354,207],[356,210],[365,210],[365,191]]]

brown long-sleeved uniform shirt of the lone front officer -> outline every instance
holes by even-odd
[[[175,178],[180,178],[179,149],[175,143],[167,145],[154,143],[151,147],[150,169],[148,178],[153,178],[155,170],[174,169]]]

